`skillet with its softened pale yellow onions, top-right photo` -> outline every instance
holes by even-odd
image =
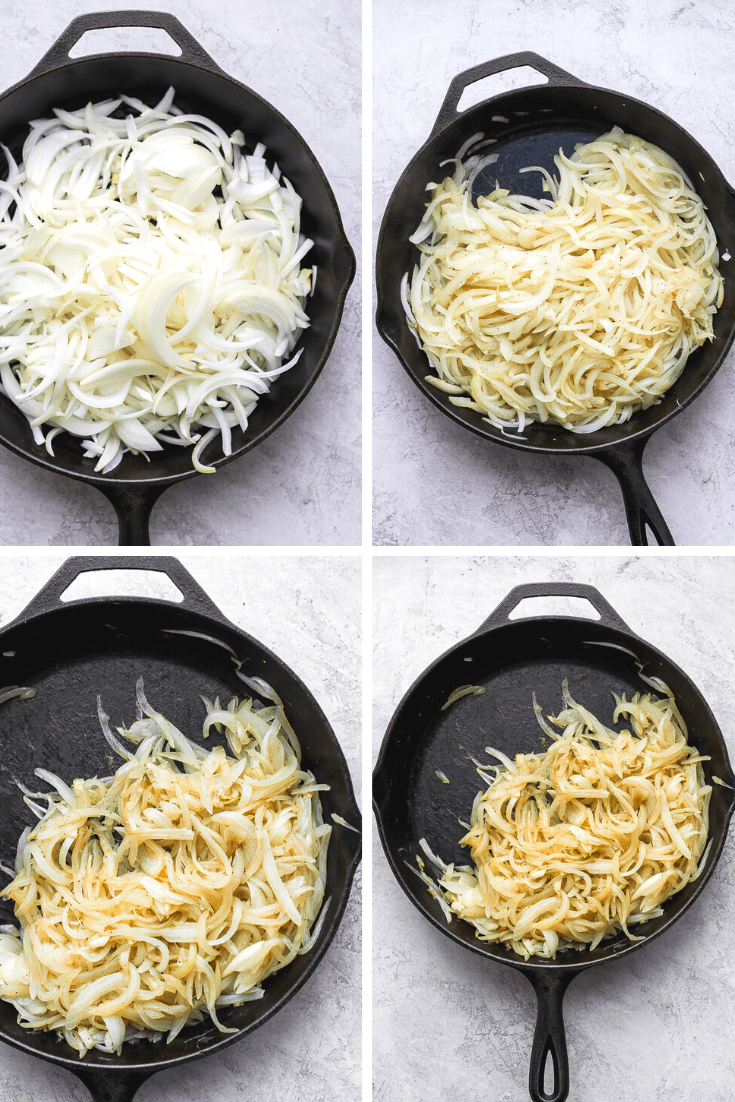
[[[472,84],[519,66],[547,83],[457,110]],[[612,206],[603,162],[633,183]],[[452,82],[386,207],[378,331],[457,424],[521,452],[599,460],[620,485],[631,543],[671,544],[642,455],[735,335],[733,199],[709,153],[662,111],[534,53],[477,65]],[[657,204],[669,213],[659,218]],[[627,236],[624,207],[646,212]],[[581,225],[607,226],[604,210],[615,230],[599,244],[580,237]],[[699,270],[675,270],[660,248],[679,215],[680,241],[701,224]],[[690,298],[684,284],[696,285]]]

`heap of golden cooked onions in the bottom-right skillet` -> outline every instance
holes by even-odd
[[[687,725],[671,691],[614,694],[615,717],[630,730],[606,727],[574,701],[545,722],[543,754],[506,755],[486,747],[499,766],[478,769],[471,829],[461,841],[473,866],[445,865],[439,885],[422,871],[447,921],[458,915],[482,941],[525,957],[553,958],[559,949],[594,949],[695,880],[706,860],[712,789],[702,757],[687,742]],[[706,849],[705,849],[706,846]],[[423,863],[419,858],[420,866]],[[414,869],[415,872],[415,869]]]

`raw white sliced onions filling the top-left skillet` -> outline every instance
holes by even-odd
[[[66,431],[102,473],[165,443],[213,472],[206,445],[230,455],[301,355],[301,198],[262,144],[185,115],[173,88],[56,109],[22,164],[2,148],[0,389],[52,455]]]

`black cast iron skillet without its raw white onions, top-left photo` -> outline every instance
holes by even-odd
[[[86,31],[105,26],[162,28],[181,47],[181,56],[126,53],[69,58],[69,50]],[[314,241],[309,259],[318,269],[306,307],[311,325],[299,345],[304,349],[302,357],[258,401],[247,431],[234,430],[231,455],[223,455],[216,441],[209,445],[206,460],[220,467],[269,436],[311,390],[332,349],[355,274],[355,256],[336,201],[309,145],[275,108],[224,73],[174,15],[153,11],[95,12],[73,20],[29,76],[0,96],[0,141],[18,160],[31,119],[51,115],[54,107],[75,109],[120,91],[153,104],[171,85],[180,107],[207,116],[228,133],[239,128],[246,140],[264,142],[269,163],[278,161],[303,199],[302,229]],[[6,173],[0,153],[0,176]],[[84,458],[79,442],[68,433],[56,437],[52,457],[33,443],[26,418],[2,396],[0,443],[47,471],[100,489],[115,507],[123,545],[149,544],[150,514],[160,495],[167,486],[196,474],[191,449],[174,445],[153,452],[148,461],[127,454],[109,475],[95,474],[94,460]],[[206,477],[214,479],[216,491],[216,476]]]

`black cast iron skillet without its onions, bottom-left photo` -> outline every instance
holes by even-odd
[[[61,599],[78,574],[111,569],[162,571],[180,590],[183,602]],[[314,696],[275,655],[235,627],[176,559],[79,558],[67,560],[21,615],[0,631],[0,684],[37,689],[32,700],[8,701],[0,711],[0,858],[6,864],[12,866],[23,828],[35,821],[15,780],[37,790],[33,769],[39,766],[68,781],[79,776],[108,776],[119,765],[111,765],[109,747],[99,731],[97,693],[112,727],[130,723],[136,716],[136,680],[142,676],[151,703],[193,734],[202,731],[199,693],[224,700],[247,693],[226,650],[193,636],[164,634],[164,628],[199,631],[228,644],[245,660],[244,672],[273,685],[298,732],[304,764],[331,786],[322,793],[325,820],[329,822],[332,812],[337,812],[359,825],[344,755]],[[215,741],[221,743],[219,736]],[[0,1002],[0,1039],[73,1071],[96,1102],[130,1102],[155,1071],[219,1051],[262,1025],[299,991],[337,930],[359,855],[359,834],[336,827],[327,863],[329,903],[320,938],[312,952],[266,981],[263,998],[225,1012],[224,1020],[235,1026],[237,1034],[221,1034],[207,1019],[184,1029],[171,1045],[141,1041],[126,1046],[122,1056],[93,1050],[79,1060],[55,1035],[22,1029],[14,1008]],[[3,900],[0,921],[12,920],[12,905]]]

